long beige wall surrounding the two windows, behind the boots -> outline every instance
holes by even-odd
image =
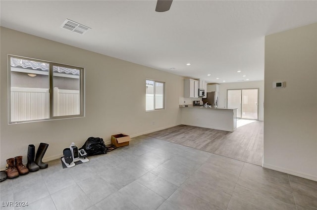
[[[1,169],[6,159],[19,155],[26,163],[29,144],[37,149],[48,143],[48,161],[61,157],[71,142],[81,147],[90,136],[109,142],[119,132],[133,137],[180,124],[183,77],[7,28],[0,30],[0,44]],[[7,54],[85,68],[85,117],[8,125]],[[165,110],[145,111],[146,79],[165,82]]]

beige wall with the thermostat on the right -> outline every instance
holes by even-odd
[[[317,23],[266,36],[265,168],[317,181],[316,92]]]

